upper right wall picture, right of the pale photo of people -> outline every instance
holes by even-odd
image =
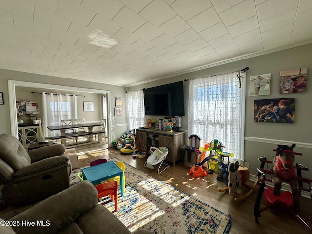
[[[282,71],[279,77],[279,93],[302,93],[307,90],[307,68]]]

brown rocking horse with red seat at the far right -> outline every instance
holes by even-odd
[[[297,163],[296,166],[293,165],[294,155],[302,155],[301,153],[293,152],[292,149],[294,147],[295,144],[292,144],[290,147],[287,145],[278,145],[276,150],[273,149],[273,151],[277,152],[273,161],[268,161],[266,157],[259,158],[261,166],[258,168],[257,180],[260,183],[260,188],[254,205],[255,222],[259,222],[258,218],[261,217],[260,212],[270,207],[282,206],[287,208],[291,214],[297,216],[312,231],[312,228],[302,218],[295,214],[295,212],[300,209],[299,196],[301,195],[302,190],[310,192],[312,198],[312,186],[310,184],[312,183],[312,179],[303,178],[301,176],[302,170],[309,171],[308,168],[299,163]],[[271,163],[273,165],[273,170],[264,169],[266,163]],[[273,175],[274,188],[268,187],[265,184],[265,181],[272,181],[272,179],[266,178],[266,174]],[[280,192],[282,181],[287,181],[290,184],[292,193],[289,191]],[[309,187],[304,187],[303,183],[307,183]],[[268,206],[260,209],[262,194],[264,194]]]

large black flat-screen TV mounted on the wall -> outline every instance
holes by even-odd
[[[145,115],[184,116],[183,81],[144,89]]]

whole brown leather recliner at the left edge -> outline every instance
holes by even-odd
[[[71,164],[62,144],[29,153],[20,141],[0,135],[0,185],[5,206],[45,199],[69,187]]]

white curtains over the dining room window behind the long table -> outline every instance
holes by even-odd
[[[77,96],[69,94],[42,93],[44,136],[60,135],[60,131],[50,131],[47,126],[62,125],[62,119],[77,118]]]

